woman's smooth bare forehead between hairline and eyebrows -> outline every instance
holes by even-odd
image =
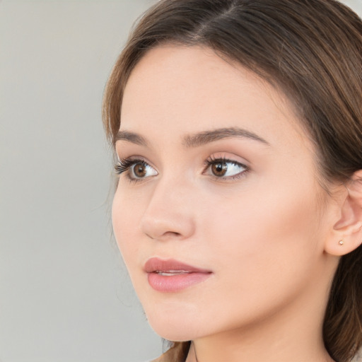
[[[149,50],[125,87],[120,128],[170,138],[220,127],[277,142],[307,139],[284,94],[240,64],[205,47]]]

